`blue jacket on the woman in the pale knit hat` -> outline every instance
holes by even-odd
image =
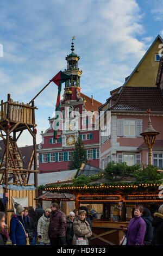
[[[9,233],[12,245],[26,245],[26,235],[19,221],[23,224],[24,229],[26,229],[24,221],[22,220],[22,216],[14,214],[10,220]]]

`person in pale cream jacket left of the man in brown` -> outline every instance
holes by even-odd
[[[48,236],[48,228],[49,228],[49,221],[50,221],[50,214],[51,209],[47,208],[45,214],[43,214],[38,221],[37,224],[37,235],[38,241],[40,245],[49,245],[49,236]]]

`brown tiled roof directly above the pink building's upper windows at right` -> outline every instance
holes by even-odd
[[[114,111],[163,111],[163,95],[159,87],[123,87],[115,104]]]

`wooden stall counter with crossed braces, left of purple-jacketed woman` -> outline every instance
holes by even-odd
[[[120,245],[123,236],[121,225],[128,227],[129,222],[92,220],[91,245]]]

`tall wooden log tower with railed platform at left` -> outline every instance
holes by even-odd
[[[31,104],[30,104],[31,103]],[[19,103],[10,98],[1,101],[0,137],[3,139],[5,150],[0,163],[0,185],[5,184],[5,193],[8,185],[34,185],[37,196],[37,155],[36,155],[36,124],[34,100],[28,104]],[[17,140],[24,130],[28,130],[33,137],[33,151],[27,169],[23,169],[23,157],[17,147]],[[32,169],[34,163],[34,169]],[[30,173],[34,173],[34,184],[28,184]],[[10,178],[12,180],[10,181]]]

